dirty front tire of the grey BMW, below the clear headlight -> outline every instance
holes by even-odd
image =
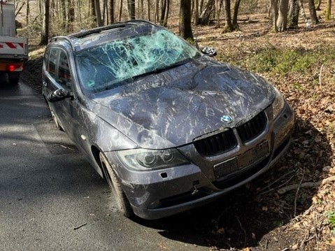
[[[126,194],[124,194],[124,191],[121,187],[119,180],[117,179],[115,171],[113,170],[111,164],[109,164],[108,162],[108,159],[102,152],[100,152],[99,156],[101,166],[106,176],[106,180],[108,182],[109,187],[111,187],[111,190],[115,197],[118,210],[120,210],[122,215],[124,215],[125,217],[131,217],[132,215],[134,215],[134,211],[131,208],[131,205],[127,199]]]

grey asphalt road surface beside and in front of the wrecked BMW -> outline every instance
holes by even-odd
[[[106,182],[56,129],[41,94],[3,82],[1,251],[209,250],[197,215],[155,221],[120,215]]]

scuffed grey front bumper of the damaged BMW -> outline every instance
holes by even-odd
[[[124,168],[114,152],[106,152],[113,163],[134,213],[157,219],[202,206],[232,189],[250,182],[267,171],[290,145],[294,113],[285,106],[272,120],[271,106],[266,109],[268,123],[256,138],[239,142],[222,155],[202,157],[193,144],[178,148],[192,164],[153,171]]]

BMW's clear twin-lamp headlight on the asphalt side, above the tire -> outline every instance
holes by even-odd
[[[132,149],[117,152],[120,160],[130,168],[136,170],[148,170],[167,168],[189,164],[181,153],[176,149],[145,150]]]

